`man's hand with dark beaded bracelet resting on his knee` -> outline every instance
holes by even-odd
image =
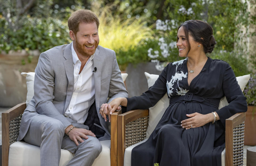
[[[69,131],[69,129],[71,129],[71,127],[74,127],[74,126],[73,125],[68,126],[65,129],[65,133],[67,133]],[[78,146],[79,145],[78,141],[81,143],[84,142],[82,138],[88,139],[87,135],[96,137],[96,135],[93,132],[91,132],[90,130],[81,129],[81,128],[77,128],[77,127],[70,130],[68,136]]]

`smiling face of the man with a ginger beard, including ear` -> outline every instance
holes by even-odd
[[[69,32],[73,40],[74,50],[77,55],[89,57],[95,53],[99,45],[99,35],[96,22],[93,23],[79,23],[79,30],[75,34],[73,31]]]

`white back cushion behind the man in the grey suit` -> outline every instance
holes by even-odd
[[[35,78],[35,73],[30,72],[30,73],[24,73],[22,72],[21,75],[26,77],[27,81],[27,100],[26,100],[26,105],[29,104],[29,101],[33,98],[34,96],[34,78]],[[123,82],[125,81],[126,77],[128,76],[127,73],[122,73],[122,79]]]

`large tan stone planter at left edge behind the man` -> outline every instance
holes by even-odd
[[[32,56],[29,62],[28,54],[0,54],[0,107],[26,102],[26,77],[21,73],[34,72],[38,58]]]

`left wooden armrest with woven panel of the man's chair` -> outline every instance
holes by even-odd
[[[16,142],[26,103],[21,103],[2,113],[2,165],[8,166],[9,146]]]

